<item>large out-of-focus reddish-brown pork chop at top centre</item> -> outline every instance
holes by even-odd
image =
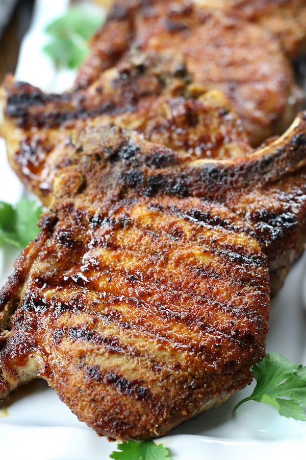
[[[117,65],[131,47],[182,53],[195,82],[230,98],[255,146],[288,127],[302,97],[277,37],[187,0],[117,1],[91,46],[77,87]]]

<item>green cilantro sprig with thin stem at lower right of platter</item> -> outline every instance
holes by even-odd
[[[254,364],[257,381],[253,393],[240,401],[257,401],[275,407],[281,416],[306,421],[306,367],[291,362],[277,353],[270,353]]]

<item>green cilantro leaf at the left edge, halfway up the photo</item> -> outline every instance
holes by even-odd
[[[29,198],[20,200],[15,209],[0,201],[0,243],[27,246],[39,232],[37,222],[41,213],[42,206]]]

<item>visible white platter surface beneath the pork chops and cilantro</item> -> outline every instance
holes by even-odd
[[[37,1],[33,25],[21,49],[18,79],[49,91],[69,87],[73,75],[56,73],[40,52],[45,41],[42,33],[45,22],[65,11],[67,5],[66,0]],[[0,142],[0,199],[16,202],[23,194],[22,186],[7,164],[4,144]],[[15,249],[0,250],[1,284],[12,271],[16,255]],[[305,272],[306,255],[295,264],[285,286],[272,301],[267,339],[268,352],[276,351],[302,364],[306,364]],[[184,423],[158,442],[170,449],[174,460],[304,458],[305,422],[286,419],[275,409],[252,401],[233,414],[234,405],[251,393],[253,385],[217,409]],[[116,448],[115,443],[99,438],[79,422],[43,381],[17,390],[0,407],[0,448],[5,460],[103,460]]]

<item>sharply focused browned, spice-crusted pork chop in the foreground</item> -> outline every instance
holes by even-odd
[[[11,387],[40,374],[99,434],[162,435],[251,380],[268,327],[266,258],[222,206],[135,197],[106,213],[76,177],[24,267],[2,372]]]

